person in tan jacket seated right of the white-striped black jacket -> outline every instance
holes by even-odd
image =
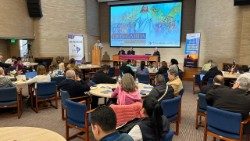
[[[178,68],[171,66],[168,70],[168,85],[174,89],[174,95],[178,96],[179,92],[183,89],[182,81],[178,75]]]

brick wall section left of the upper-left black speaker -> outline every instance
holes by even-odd
[[[0,38],[34,38],[25,0],[0,0]]]

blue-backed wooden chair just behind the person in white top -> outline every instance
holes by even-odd
[[[52,105],[51,101],[55,101],[55,105]],[[57,109],[58,107],[58,96],[56,82],[43,82],[37,83],[37,87],[34,93],[31,95],[31,106],[32,109],[38,113],[41,102],[50,102],[50,106]]]

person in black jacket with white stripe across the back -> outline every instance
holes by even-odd
[[[150,91],[148,97],[154,97],[158,101],[174,98],[174,89],[170,85],[166,85],[163,75],[157,74],[155,76],[155,87]]]

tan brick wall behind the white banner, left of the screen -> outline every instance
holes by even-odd
[[[34,21],[35,40],[32,53],[39,57],[68,57],[69,33],[83,34],[85,54],[93,44],[86,33],[86,6],[83,0],[42,0],[43,17]],[[88,58],[88,57],[87,57]]]

